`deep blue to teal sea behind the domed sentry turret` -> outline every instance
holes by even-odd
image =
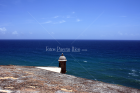
[[[140,41],[0,40],[0,65],[58,66],[67,73],[140,89]]]

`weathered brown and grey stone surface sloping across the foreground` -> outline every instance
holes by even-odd
[[[140,93],[139,89],[55,73],[32,66],[0,66],[0,93]]]

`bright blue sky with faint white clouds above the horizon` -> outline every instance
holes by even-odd
[[[140,40],[140,0],[0,0],[0,39]]]

